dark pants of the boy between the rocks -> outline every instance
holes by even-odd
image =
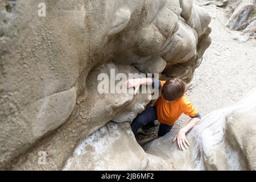
[[[133,123],[131,123],[131,130],[133,130],[133,133],[136,134],[140,127],[147,125],[148,123],[153,122],[156,119],[158,118],[156,117],[155,106],[149,107],[142,113],[139,113],[137,117],[133,120]],[[158,137],[162,137],[163,135],[167,134],[171,129],[172,126],[160,123]]]

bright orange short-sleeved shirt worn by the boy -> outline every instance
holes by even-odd
[[[161,82],[161,89],[166,81]],[[179,100],[174,102],[167,102],[162,96],[158,98],[155,102],[156,114],[158,121],[166,125],[174,125],[177,118],[180,117],[182,113],[188,115],[189,117],[194,117],[198,114],[193,104],[185,96],[181,97]]]

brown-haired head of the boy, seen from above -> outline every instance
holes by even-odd
[[[164,100],[173,102],[179,100],[186,91],[184,81],[179,78],[171,78],[163,85],[162,96]]]

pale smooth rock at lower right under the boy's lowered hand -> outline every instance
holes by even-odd
[[[255,170],[256,88],[241,101],[215,110],[188,133],[189,150],[172,143],[175,131],[144,144],[170,170]]]

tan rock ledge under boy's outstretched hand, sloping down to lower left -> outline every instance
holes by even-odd
[[[115,73],[112,73],[112,71]],[[105,64],[99,69],[95,68],[90,71],[88,79],[86,80],[89,96],[86,101],[80,101],[80,106],[68,121],[72,123],[69,123],[67,126],[62,126],[58,133],[52,135],[51,143],[54,143],[54,145],[48,144],[48,146],[44,146],[44,142],[42,142],[43,145],[37,146],[35,150],[32,151],[33,155],[30,154],[29,156],[20,156],[19,162],[13,166],[13,169],[49,169],[49,167],[51,167],[51,169],[59,168],[61,166],[54,166],[52,165],[51,161],[60,160],[61,162],[65,162],[63,158],[67,158],[70,155],[65,151],[70,150],[71,147],[76,147],[80,140],[84,139],[81,137],[86,137],[87,135],[92,134],[113,118],[115,118],[113,120],[117,122],[132,121],[138,112],[144,110],[144,106],[150,102],[150,97],[148,96],[151,96],[151,93],[138,93],[134,96],[133,89],[129,89],[129,92],[127,93],[117,93],[115,90],[113,90],[115,92],[111,93],[112,90],[110,89],[112,88],[112,85],[110,82],[107,84],[109,93],[97,92],[98,86],[101,86],[100,82],[102,82],[101,77],[98,79],[100,73],[105,74],[105,76],[112,77],[119,72],[127,77],[128,73],[138,73],[138,75],[140,73],[136,68],[130,67],[129,65],[118,65],[113,63]],[[125,80],[122,80],[121,84],[123,82],[125,82]],[[134,103],[136,104],[133,105]],[[122,118],[119,113],[125,113],[130,117]],[[63,136],[65,139],[62,139]],[[74,142],[74,138],[79,140],[75,140]],[[60,150],[60,146],[62,150]],[[51,166],[48,166],[48,163],[46,163],[45,166],[40,163],[34,163],[36,158],[38,158],[37,154],[40,151],[48,152],[46,160],[49,161],[48,163],[51,163]],[[23,160],[23,157],[26,158],[26,160]]]

